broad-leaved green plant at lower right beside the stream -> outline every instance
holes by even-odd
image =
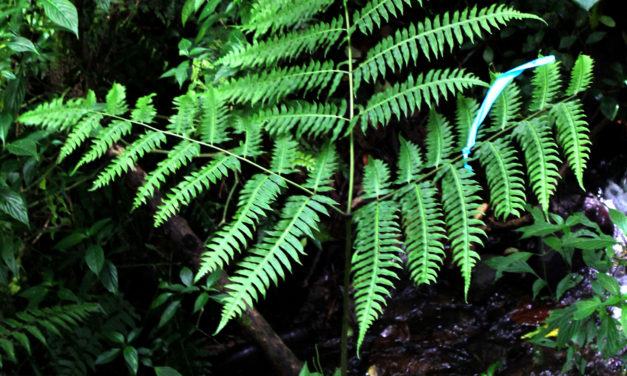
[[[550,290],[550,298],[557,303],[558,308],[551,310],[545,324],[524,337],[535,344],[566,349],[562,373],[575,367],[585,374],[588,360],[583,354],[588,352],[586,350],[599,352],[605,358],[622,356],[624,362],[627,357],[627,294],[621,290],[615,276],[624,268],[625,244],[604,234],[599,225],[583,213],[566,219],[553,213],[545,217],[537,209],[532,210],[532,214],[533,223],[517,231],[522,233],[522,239],[541,238],[546,250],[541,253],[516,251],[486,261],[496,269],[495,280],[503,273],[535,276],[534,298]],[[627,231],[627,217],[614,209],[610,214],[619,232]],[[540,272],[530,265],[533,257],[549,260],[553,254],[559,255],[567,267],[566,275],[555,286],[547,281],[546,265]],[[575,299],[564,299],[569,290],[576,287],[585,292],[583,299],[576,295]]]

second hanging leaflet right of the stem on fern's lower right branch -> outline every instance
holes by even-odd
[[[436,197],[437,190],[427,181],[410,183],[401,193],[407,266],[416,286],[435,283],[446,256],[442,243],[446,231]]]

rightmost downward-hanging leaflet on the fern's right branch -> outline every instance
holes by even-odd
[[[559,103],[551,108],[551,117],[555,121],[557,141],[564,151],[568,165],[575,173],[581,189],[585,189],[583,171],[590,157],[590,137],[581,102],[572,100]]]

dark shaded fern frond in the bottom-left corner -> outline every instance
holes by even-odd
[[[47,346],[47,338],[50,335],[61,335],[61,330],[72,330],[90,313],[98,310],[100,310],[98,304],[83,303],[18,312],[17,317],[4,319],[0,323],[0,349],[3,350],[5,356],[9,357],[9,360],[16,363],[14,343],[19,344],[30,355],[29,337]],[[0,354],[1,367],[2,356]]]

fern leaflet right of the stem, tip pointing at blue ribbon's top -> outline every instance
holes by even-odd
[[[439,102],[440,96],[446,99],[449,94],[455,95],[473,85],[487,86],[463,69],[431,70],[426,75],[419,74],[417,78],[409,75],[407,81],[376,93],[368,100],[366,108],[360,113],[361,128],[366,130],[368,120],[376,127],[387,125],[392,115],[399,120],[408,117],[413,111],[420,110],[423,102],[431,107],[432,102]]]

